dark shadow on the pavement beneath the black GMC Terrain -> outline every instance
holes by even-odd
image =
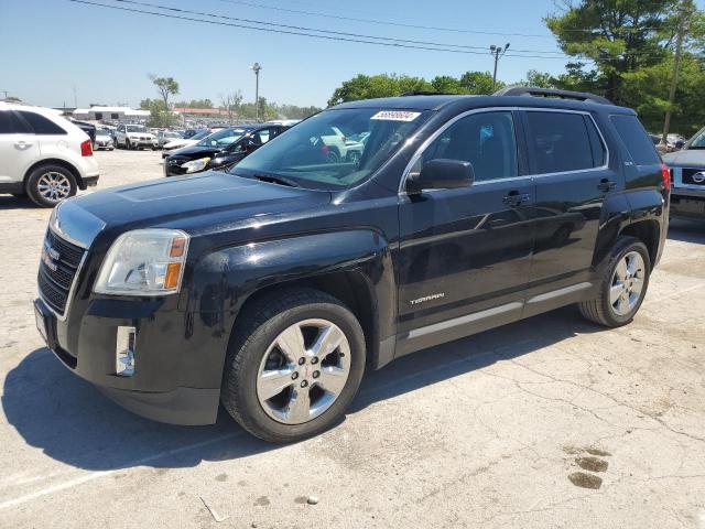
[[[568,307],[410,355],[368,373],[350,412],[596,331]],[[32,352],[8,374],[2,408],[28,445],[84,469],[189,467],[279,449],[249,435],[224,410],[209,427],[137,417],[69,373],[46,348]]]

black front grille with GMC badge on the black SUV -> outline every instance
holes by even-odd
[[[85,250],[46,230],[37,283],[44,302],[64,315]]]

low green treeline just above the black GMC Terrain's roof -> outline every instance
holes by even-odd
[[[497,84],[497,89],[503,83]],[[333,93],[328,106],[358,99],[377,97],[394,97],[412,91],[437,91],[442,94],[491,94],[492,75],[489,72],[467,72],[456,78],[440,75],[427,82],[423,77],[410,77],[397,74],[362,75],[359,74],[344,82]]]

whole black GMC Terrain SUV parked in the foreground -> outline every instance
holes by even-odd
[[[547,97],[552,96],[552,97]],[[333,160],[332,127],[367,134]],[[327,109],[229,172],[68,199],[40,263],[40,332],[142,415],[292,441],[366,369],[577,303],[629,323],[669,179],[632,110],[512,88]]]

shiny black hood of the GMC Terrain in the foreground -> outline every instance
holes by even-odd
[[[209,171],[113,187],[67,201],[99,218],[109,230],[171,227],[194,235],[234,223],[252,224],[253,217],[262,222],[270,215],[316,208],[328,202],[327,192]]]

